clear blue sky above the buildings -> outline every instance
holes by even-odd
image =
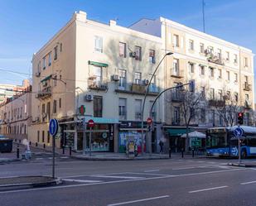
[[[0,84],[21,84],[31,73],[31,57],[73,12],[100,22],[129,26],[142,17],[167,17],[202,31],[201,0],[0,0]],[[205,31],[256,52],[256,1],[205,0]]]

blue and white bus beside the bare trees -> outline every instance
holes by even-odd
[[[239,156],[235,127],[214,127],[207,130],[207,156]],[[240,138],[241,158],[256,156],[256,127],[240,126],[244,135]]]

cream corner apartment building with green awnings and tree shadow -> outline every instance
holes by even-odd
[[[60,138],[56,145],[89,150],[89,130],[83,119],[93,119],[92,151],[123,152],[128,136],[135,137],[140,147],[142,99],[148,79],[164,54],[160,37],[118,26],[114,21],[94,22],[85,12],[75,12],[70,22],[33,55],[29,140],[50,146],[49,120],[57,118]],[[164,87],[163,71],[160,65],[149,87],[144,121]],[[156,124],[164,117],[162,103],[163,98],[151,114]],[[157,128],[153,136],[161,132],[161,127]]]

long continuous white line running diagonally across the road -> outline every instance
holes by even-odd
[[[47,189],[75,188],[75,187],[83,187],[83,186],[90,186],[90,185],[97,185],[97,184],[118,184],[118,183],[142,181],[142,180],[159,180],[159,179],[166,179],[166,178],[175,178],[175,177],[192,176],[192,175],[208,175],[208,174],[230,172],[230,171],[239,171],[239,170],[246,170],[246,169],[245,168],[238,168],[238,169],[233,169],[233,170],[216,170],[216,171],[209,171],[209,172],[191,173],[191,174],[186,174],[186,175],[165,175],[165,176],[149,177],[149,178],[142,178],[142,179],[115,180],[115,181],[99,182],[99,183],[91,183],[91,184],[90,183],[89,184],[75,184],[75,185],[72,184],[72,185],[64,185],[64,186],[61,185],[61,186],[46,187],[46,188],[17,189],[17,190],[10,190],[10,191],[0,191],[0,194],[21,193],[21,192],[27,192],[27,191],[47,190]],[[80,175],[80,176],[83,176],[83,175]]]

